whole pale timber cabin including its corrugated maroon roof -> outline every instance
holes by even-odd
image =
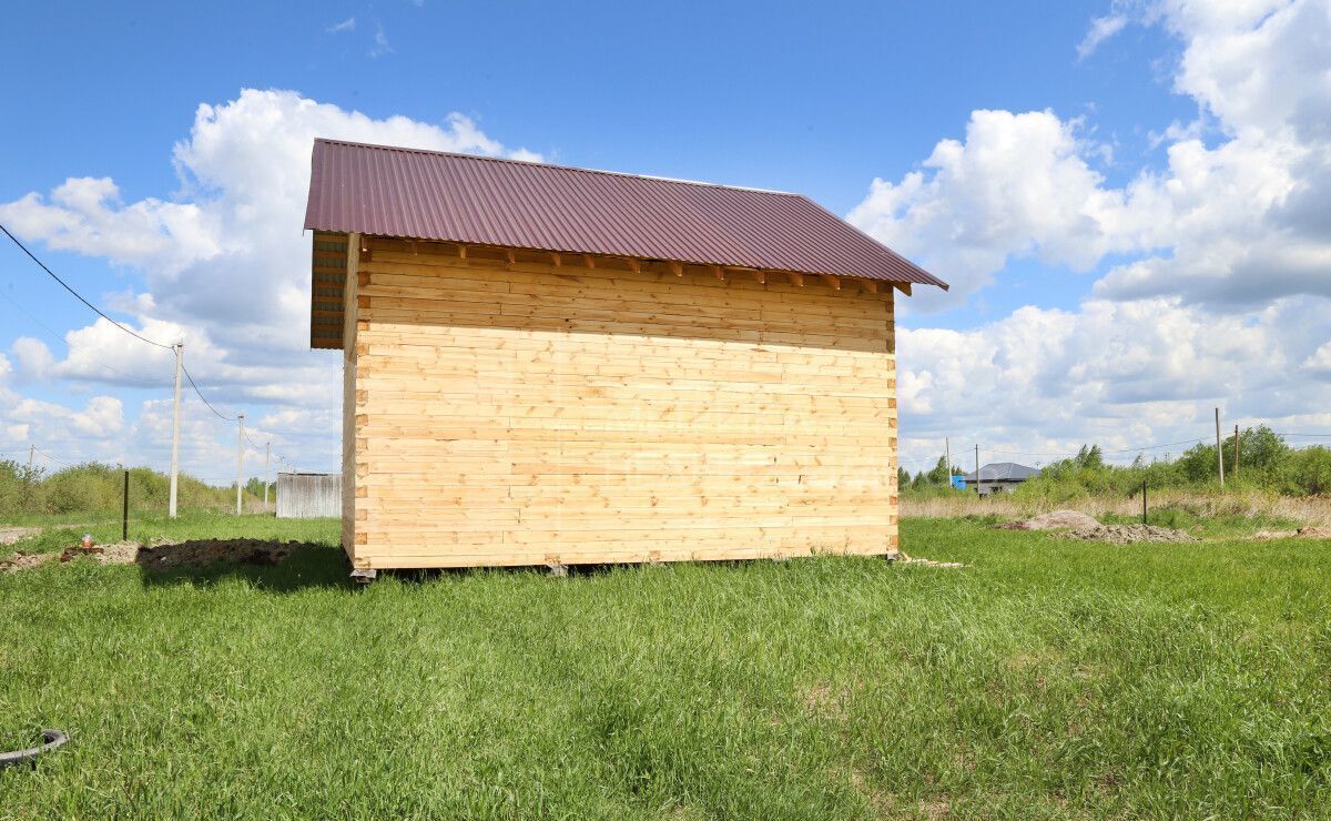
[[[805,197],[314,144],[353,572],[890,554],[893,301]]]

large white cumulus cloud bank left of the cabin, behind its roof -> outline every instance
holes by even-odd
[[[504,146],[463,114],[442,124],[374,118],[291,90],[245,89],[234,100],[198,106],[189,134],[173,149],[180,180],[174,194],[125,202],[113,180],[69,178],[45,194],[31,192],[0,204],[0,221],[25,242],[140,270],[144,290],[125,293],[117,279],[106,285],[120,290],[88,295],[128,314],[124,323],[149,339],[184,339],[186,367],[222,412],[257,405],[278,409],[272,414],[305,414],[309,432],[317,434],[306,442],[307,458],[329,467],[337,463],[341,430],[330,423],[339,414],[341,361],[309,350],[310,237],[301,230],[315,137],[540,158]],[[105,319],[68,331],[64,342],[68,350],[55,353],[36,339],[16,342],[11,355],[19,374],[9,381],[106,383],[169,397],[169,350],[133,339]],[[8,358],[3,370],[13,370]],[[9,409],[0,410],[0,424],[28,423],[15,422],[20,401],[0,401]],[[170,436],[169,401],[165,416],[156,402],[144,405],[129,438],[136,452],[160,464],[160,447]],[[216,439],[220,420],[190,402],[200,430]],[[105,423],[96,427],[110,430]],[[55,436],[45,428],[31,432]],[[294,448],[303,431],[287,432]],[[77,446],[92,447],[83,440]],[[205,446],[194,450],[202,459]],[[110,459],[125,451],[108,446],[88,452]]]

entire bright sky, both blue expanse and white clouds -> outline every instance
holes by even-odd
[[[302,349],[293,297],[309,241],[293,145],[318,128],[849,214],[954,283],[904,311],[908,464],[942,435],[1030,454],[1201,436],[1217,405],[1331,431],[1326,0],[28,4],[8,20],[0,221],[117,318],[198,337],[210,398],[303,468],[337,451],[337,362]],[[169,362],[109,342],[12,247],[0,297],[0,451],[160,464]],[[224,480],[234,430],[192,414],[186,463]]]

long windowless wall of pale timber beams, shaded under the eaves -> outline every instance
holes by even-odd
[[[357,567],[896,550],[890,290],[359,242]]]

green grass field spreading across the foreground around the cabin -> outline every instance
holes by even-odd
[[[284,527],[214,519],[188,527]],[[1331,813],[1328,542],[906,520],[906,552],[969,567],[358,589],[335,530],[278,567],[0,575],[0,748],[72,739],[0,770],[0,816]]]

